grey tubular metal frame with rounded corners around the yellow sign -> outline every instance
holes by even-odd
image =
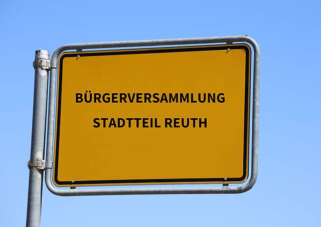
[[[59,47],[53,54],[50,61],[50,82],[49,82],[49,105],[48,105],[48,130],[45,163],[52,163],[53,142],[54,142],[54,119],[56,103],[56,79],[57,60],[61,53],[66,50],[76,50],[81,52],[84,49],[106,49],[125,47],[151,47],[151,46],[173,46],[192,44],[232,44],[235,42],[247,43],[254,50],[253,69],[253,106],[252,106],[252,149],[251,149],[251,177],[249,181],[239,187],[183,187],[183,188],[102,188],[102,189],[58,189],[51,181],[52,169],[44,166],[45,182],[49,191],[61,196],[74,195],[124,195],[124,194],[220,194],[220,193],[242,193],[251,189],[256,181],[258,172],[258,112],[259,112],[259,74],[260,74],[260,49],[254,39],[248,36],[229,37],[206,37],[190,39],[165,39],[165,40],[143,40],[143,41],[122,41],[122,42],[102,42],[68,44]]]

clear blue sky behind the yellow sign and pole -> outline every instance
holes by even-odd
[[[26,221],[35,50],[245,34],[262,55],[253,189],[59,197],[44,187],[42,226],[320,226],[320,11],[318,1],[2,1],[0,226]]]

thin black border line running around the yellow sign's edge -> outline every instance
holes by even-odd
[[[58,159],[59,159],[59,139],[60,139],[60,118],[61,118],[61,92],[62,92],[62,69],[63,60],[68,57],[87,57],[87,56],[107,56],[107,55],[127,55],[127,54],[154,54],[154,53],[174,53],[174,52],[194,52],[194,51],[214,51],[214,50],[237,50],[243,49],[246,53],[245,60],[245,98],[244,98],[244,145],[243,145],[243,175],[241,177],[227,178],[172,178],[172,179],[123,179],[123,180],[75,180],[71,181],[59,181],[58,180]],[[247,177],[248,170],[248,144],[249,144],[249,95],[250,95],[250,47],[246,44],[240,44],[239,46],[224,45],[224,46],[189,46],[189,47],[177,47],[170,49],[135,49],[127,51],[112,51],[112,52],[83,52],[83,53],[63,53],[59,60],[59,87],[58,87],[58,110],[57,110],[57,128],[56,128],[56,150],[55,150],[55,171],[54,181],[58,186],[63,185],[95,185],[95,184],[122,184],[122,183],[197,183],[197,182],[241,182]]]

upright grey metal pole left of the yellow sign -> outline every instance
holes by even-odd
[[[29,167],[29,189],[27,207],[27,227],[39,227],[44,165],[44,142],[46,131],[46,105],[49,71],[49,51],[36,51],[34,109],[32,121],[31,153]]]

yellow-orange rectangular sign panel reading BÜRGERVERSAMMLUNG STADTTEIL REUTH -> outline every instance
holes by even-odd
[[[61,54],[53,182],[244,182],[250,75],[246,44]]]

